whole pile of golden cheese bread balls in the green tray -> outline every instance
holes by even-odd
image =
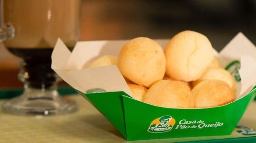
[[[135,99],[169,108],[204,108],[235,100],[236,83],[219,67],[209,39],[194,31],[175,35],[164,50],[154,40],[128,41],[119,56],[89,66],[117,65]]]

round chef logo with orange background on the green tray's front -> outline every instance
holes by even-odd
[[[154,119],[148,128],[148,132],[161,133],[171,131],[175,125],[175,119],[171,116],[162,116]]]

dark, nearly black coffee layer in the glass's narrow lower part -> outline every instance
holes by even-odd
[[[8,50],[24,60],[21,66],[27,72],[25,82],[30,87],[48,88],[56,82],[58,77],[51,68],[53,48],[8,48]]]

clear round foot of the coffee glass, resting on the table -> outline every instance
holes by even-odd
[[[56,90],[26,89],[23,95],[2,105],[6,113],[16,115],[57,115],[78,110],[75,101],[58,95]]]

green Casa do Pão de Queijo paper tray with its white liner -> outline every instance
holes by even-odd
[[[168,41],[156,40],[162,48]],[[150,105],[132,97],[116,66],[82,69],[100,56],[118,55],[125,42],[127,40],[78,42],[71,53],[58,39],[52,54],[52,68],[92,103],[126,140],[229,135],[256,95],[256,48],[242,33],[219,54],[216,52],[220,64],[236,77],[237,100],[210,108]]]

